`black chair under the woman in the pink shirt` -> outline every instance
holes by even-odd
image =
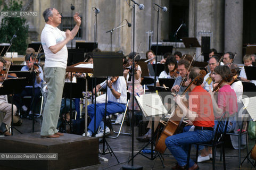
[[[246,138],[246,153],[248,154],[248,131],[247,131],[247,115],[243,117],[242,124],[240,121],[236,121],[240,128],[238,133],[235,132],[227,132],[228,135],[235,135],[238,137],[238,165],[241,166],[241,145],[242,145],[242,136],[245,134]]]

